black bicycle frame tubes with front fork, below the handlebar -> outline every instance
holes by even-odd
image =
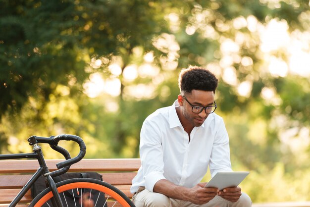
[[[35,158],[39,161],[40,167],[33,174],[30,180],[26,183],[26,185],[21,189],[21,191],[16,195],[13,201],[10,203],[8,207],[15,207],[18,202],[25,196],[27,191],[31,188],[31,186],[35,183],[35,181],[41,176],[44,175],[46,181],[52,189],[52,193],[54,195],[54,200],[52,201],[54,206],[63,207],[60,196],[57,192],[56,184],[53,181],[50,170],[44,160],[44,156],[41,150],[41,147],[38,144],[33,145],[33,153],[22,153],[22,154],[10,154],[10,155],[0,155],[0,159],[20,159],[20,158]]]

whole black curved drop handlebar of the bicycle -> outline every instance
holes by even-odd
[[[34,140],[33,140],[34,138]],[[79,144],[80,146],[80,153],[76,157],[71,158],[70,153],[58,146],[58,142],[61,140],[66,141],[74,141]],[[51,176],[55,177],[58,175],[61,175],[65,172],[67,172],[71,166],[71,164],[74,164],[78,161],[80,161],[86,154],[86,146],[84,141],[76,136],[76,135],[70,135],[70,134],[61,134],[57,136],[51,136],[51,137],[38,137],[38,136],[32,136],[28,139],[28,142],[30,145],[36,144],[36,143],[47,143],[50,144],[51,148],[59,153],[61,153],[65,157],[65,161],[59,162],[56,164],[56,167],[58,170],[51,172]]]

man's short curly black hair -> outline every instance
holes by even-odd
[[[213,91],[217,88],[217,78],[209,70],[190,66],[181,70],[179,88],[181,93],[192,93],[192,90]]]

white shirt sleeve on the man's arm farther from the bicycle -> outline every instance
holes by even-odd
[[[232,171],[229,151],[229,138],[223,119],[218,120],[210,157],[210,173],[213,177],[218,171]],[[215,126],[216,126],[215,125]]]

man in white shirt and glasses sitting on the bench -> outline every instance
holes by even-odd
[[[209,166],[232,171],[229,139],[216,115],[217,78],[191,66],[179,76],[181,94],[172,106],[156,110],[141,129],[141,167],[131,193],[136,207],[251,207],[240,187],[204,188]]]

